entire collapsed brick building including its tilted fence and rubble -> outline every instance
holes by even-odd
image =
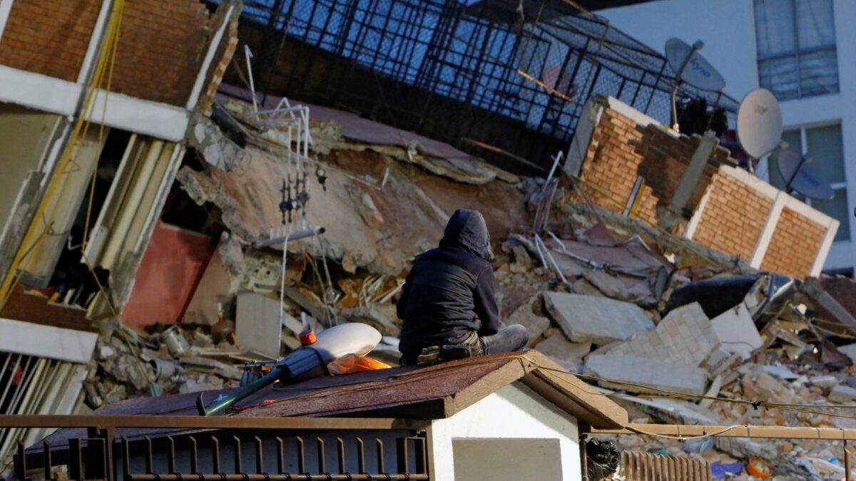
[[[856,399],[853,283],[817,278],[837,221],[740,169],[715,134],[664,128],[662,56],[561,9],[520,22],[504,3],[395,4],[163,0],[183,15],[164,21],[92,2],[51,14],[79,34],[68,51],[24,55],[3,46],[32,43],[38,9],[11,3],[0,122],[24,141],[0,145],[18,159],[3,413],[233,387],[247,360],[348,322],[379,330],[372,355],[396,365],[408,267],[469,207],[496,245],[503,320],[621,404],[621,425],[853,427],[835,416]],[[437,23],[430,40],[402,33],[417,14]],[[245,45],[257,60],[235,56]],[[0,431],[0,455],[45,434]],[[822,442],[619,442],[844,472]]]

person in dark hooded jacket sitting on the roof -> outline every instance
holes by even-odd
[[[526,347],[526,328],[501,329],[494,296],[490,234],[479,211],[459,209],[440,246],[419,256],[395,306],[401,365],[508,353]]]

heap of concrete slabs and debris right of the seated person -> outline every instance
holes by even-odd
[[[590,212],[570,216],[574,229],[544,242],[549,251],[519,236],[502,245],[508,258],[496,277],[513,312],[505,320],[526,325],[532,347],[614,396],[634,423],[856,426],[841,409],[856,401],[856,344],[845,345],[853,324],[841,322],[852,318],[824,289],[837,285],[848,299],[856,284],[800,282],[740,262],[728,269],[688,242],[683,255],[664,255],[665,235],[627,229],[627,219],[608,229],[597,218],[608,213]],[[535,260],[547,252],[555,264]],[[756,456],[786,477],[844,472],[841,445],[829,441],[615,441],[746,477]]]

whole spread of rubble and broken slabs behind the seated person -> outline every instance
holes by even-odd
[[[279,223],[288,146],[282,133],[244,116],[247,103],[229,98],[224,108],[247,131],[247,146],[229,145],[217,162],[178,175],[227,229],[199,282],[197,292],[208,294],[194,297],[177,331],[104,328],[98,372],[87,381],[91,405],[235,386],[247,360],[276,359],[300,346],[301,331],[346,322],[380,330],[372,355],[396,365],[395,301],[407,270],[436,245],[449,212],[466,206],[482,211],[491,229],[505,324],[524,325],[530,347],[614,395],[636,422],[856,425],[829,415],[839,412],[829,406],[856,403],[853,298],[841,300],[852,292],[847,286],[758,272],[662,229],[571,203],[568,179],[555,188],[556,180],[508,175],[449,145],[402,145],[377,134],[389,128],[376,122],[342,124],[341,112],[319,108],[321,120],[311,123],[313,169],[323,165],[327,178],[309,184],[321,200],[306,215],[326,232],[288,244],[283,280],[282,251],[252,243]],[[207,126],[205,136],[214,134]],[[533,221],[544,225],[543,237],[532,236]],[[187,347],[170,348],[175,332]],[[841,464],[820,441],[617,442],[722,466],[762,456],[783,476],[826,475]]]

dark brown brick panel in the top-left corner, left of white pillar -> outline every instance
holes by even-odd
[[[0,39],[0,64],[77,80],[100,0],[15,0]]]

